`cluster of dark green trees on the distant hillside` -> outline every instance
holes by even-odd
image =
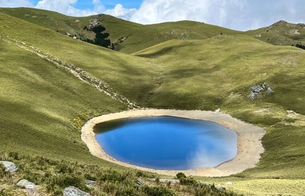
[[[111,41],[110,41],[110,39],[108,39],[109,33],[102,33],[106,30],[104,26],[98,25],[98,26],[93,27],[90,30],[88,29],[87,26],[85,26],[84,30],[93,31],[96,34],[96,37],[95,37],[94,40],[90,40],[88,38],[85,38],[85,39],[81,39],[82,41],[85,41],[85,42],[88,42],[88,43],[91,43],[91,44],[95,44],[95,45],[98,45],[98,46],[102,46],[102,47],[105,47],[105,48],[111,48],[110,47]]]

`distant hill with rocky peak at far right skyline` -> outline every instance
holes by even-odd
[[[245,35],[273,45],[295,46],[297,43],[305,44],[305,24],[293,24],[281,20],[258,30],[247,31]]]

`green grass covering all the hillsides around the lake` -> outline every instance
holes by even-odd
[[[261,195],[256,190],[260,182],[265,187],[262,190],[268,190],[269,195],[281,194],[277,188],[297,195],[295,186],[285,188],[283,183],[290,179],[289,183],[299,184],[305,178],[304,50],[274,46],[249,32],[250,36],[240,35],[241,32],[199,22],[140,25],[101,15],[106,29],[112,31],[112,39],[133,35],[119,45],[122,52],[117,52],[60,34],[68,27],[71,27],[69,31],[76,31],[90,17],[80,18],[74,24],[75,17],[55,12],[25,8],[0,11],[17,17],[0,13],[1,33],[83,69],[141,107],[221,108],[235,118],[265,127],[267,133],[262,138],[265,153],[256,167],[228,178],[196,179],[219,183],[231,180],[236,183],[230,188],[239,191],[245,186],[245,191],[239,192],[246,195]],[[29,18],[25,12],[42,18]],[[43,18],[44,14],[48,17]],[[59,19],[67,21],[60,23]],[[54,22],[58,23],[58,30],[62,28],[58,33],[53,30]],[[174,35],[167,36],[173,30],[176,35],[189,31],[196,34],[188,40],[173,39]],[[225,35],[220,36],[220,31]],[[151,39],[151,35],[158,39]],[[64,68],[13,44],[0,40],[0,51],[3,84],[0,86],[0,150],[134,172],[93,157],[80,139],[80,127],[86,120],[126,110],[125,105]],[[273,92],[256,100],[247,98],[249,89],[261,82]],[[247,185],[248,182],[254,184]],[[274,182],[272,190],[267,189],[268,182]],[[114,186],[119,185],[109,184]],[[195,195],[196,191],[192,190],[188,193]]]

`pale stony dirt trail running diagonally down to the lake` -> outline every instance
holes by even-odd
[[[21,47],[27,51],[33,52],[33,53],[39,55],[39,57],[44,58],[44,59],[48,60],[49,62],[54,63],[57,66],[68,69],[73,75],[78,77],[80,80],[87,82],[89,85],[94,86],[96,89],[105,93],[112,99],[115,99],[115,100],[127,105],[128,108],[130,108],[130,109],[140,108],[139,106],[136,105],[136,103],[130,101],[127,97],[115,92],[106,82],[90,75],[89,73],[76,67],[75,65],[61,61],[61,60],[53,57],[51,54],[43,52],[43,51],[39,50],[38,48],[35,48],[34,46],[27,45],[26,43],[24,43],[20,40],[11,38],[2,33],[0,33],[0,39],[4,40],[6,42],[9,42],[11,44],[14,44],[18,47]]]

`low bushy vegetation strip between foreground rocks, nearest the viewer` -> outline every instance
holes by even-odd
[[[75,186],[92,195],[137,195],[137,196],[237,196],[231,191],[219,190],[213,184],[203,184],[192,178],[180,178],[180,183],[152,182],[149,178],[157,178],[154,174],[140,171],[125,171],[101,168],[98,165],[79,164],[70,161],[56,161],[45,157],[19,156],[10,152],[0,154],[0,159],[15,162],[19,166],[17,174],[10,174],[2,170],[0,165],[0,194],[9,196],[20,194],[15,184],[18,180],[26,179],[41,185],[43,195],[62,195],[62,190],[68,186]],[[86,186],[86,180],[97,183]],[[144,185],[137,185],[141,180]]]

